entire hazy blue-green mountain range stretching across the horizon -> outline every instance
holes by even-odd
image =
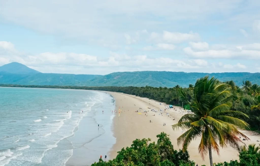
[[[185,73],[185,72],[116,72],[107,75],[41,73],[21,63],[12,62],[0,67],[0,84],[68,85],[68,86],[153,86],[187,87],[205,75],[220,81],[233,80],[238,86],[249,80],[260,85],[260,73]]]

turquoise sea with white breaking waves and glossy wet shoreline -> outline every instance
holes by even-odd
[[[115,144],[114,109],[102,92],[0,87],[0,166],[91,165]]]

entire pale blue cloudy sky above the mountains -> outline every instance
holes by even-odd
[[[0,0],[0,66],[260,72],[259,0]]]

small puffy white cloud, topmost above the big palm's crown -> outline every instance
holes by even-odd
[[[192,31],[189,34],[164,31],[162,37],[163,40],[172,43],[181,43],[184,41],[197,41],[200,38],[199,34],[193,33]]]

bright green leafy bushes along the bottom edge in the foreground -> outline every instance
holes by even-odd
[[[123,148],[115,159],[104,162],[99,159],[91,166],[195,166],[187,151],[174,150],[166,133],[157,135],[158,141],[136,139],[131,147]],[[213,164],[214,166],[260,166],[259,146],[241,147],[239,161]]]

